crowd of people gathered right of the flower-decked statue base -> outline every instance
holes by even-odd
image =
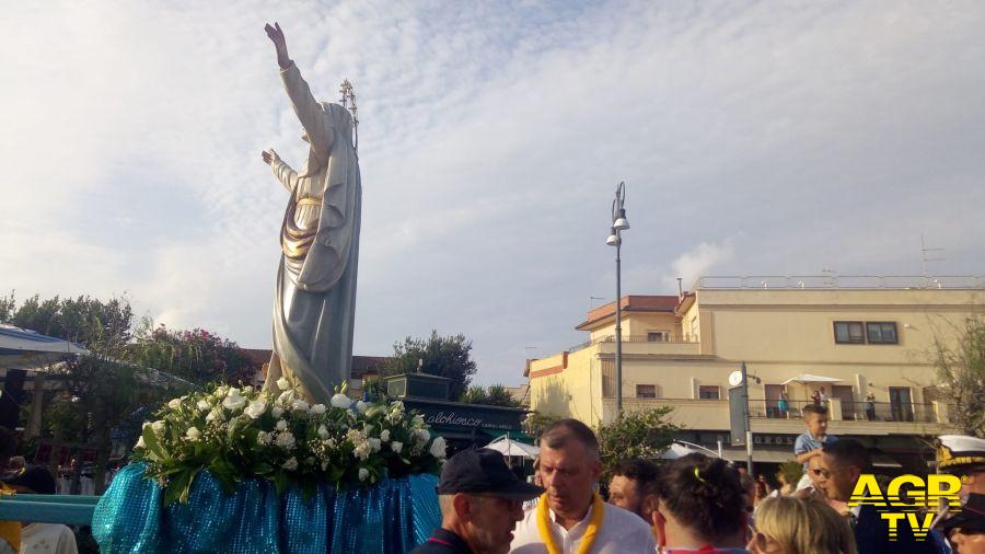
[[[859,477],[872,471],[866,447],[828,436],[823,406],[804,419],[796,446],[804,478],[775,489],[702,453],[662,464],[626,460],[600,483],[599,442],[577,419],[541,436],[534,483],[513,474],[498,452],[464,450],[441,474],[441,528],[414,552],[985,553],[985,440],[941,438],[938,466],[961,475],[963,509],[936,515],[926,538],[905,521],[891,536],[880,516],[887,508],[849,503]]]

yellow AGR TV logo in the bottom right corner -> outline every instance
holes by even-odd
[[[900,475],[890,482],[883,495],[876,476],[864,473],[858,477],[848,506],[894,508],[879,510],[879,516],[889,523],[889,539],[896,540],[900,521],[905,520],[913,530],[914,539],[923,541],[930,532],[930,524],[938,507],[947,504],[952,511],[961,509],[959,490],[961,478],[957,475],[928,475],[926,483],[917,475]],[[920,515],[923,508],[927,508],[928,511]]]

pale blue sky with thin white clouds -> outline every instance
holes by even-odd
[[[270,347],[306,146],[264,33],[355,89],[358,355],[462,333],[476,382],[702,275],[985,275],[977,1],[9,2],[0,290],[126,296]],[[604,300],[592,299],[598,297]]]

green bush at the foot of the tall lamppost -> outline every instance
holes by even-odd
[[[672,411],[668,406],[631,411],[610,424],[600,424],[595,434],[599,436],[603,471],[607,474],[619,460],[659,458],[680,429],[668,422]]]

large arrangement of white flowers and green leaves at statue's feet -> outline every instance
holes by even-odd
[[[445,443],[403,402],[354,402],[345,385],[328,406],[309,404],[287,379],[270,394],[220,385],[174,399],[146,423],[134,459],[164,487],[164,504],[187,501],[195,476],[208,470],[228,492],[243,477],[291,484],[313,493],[370,485],[384,474],[438,473]]]

